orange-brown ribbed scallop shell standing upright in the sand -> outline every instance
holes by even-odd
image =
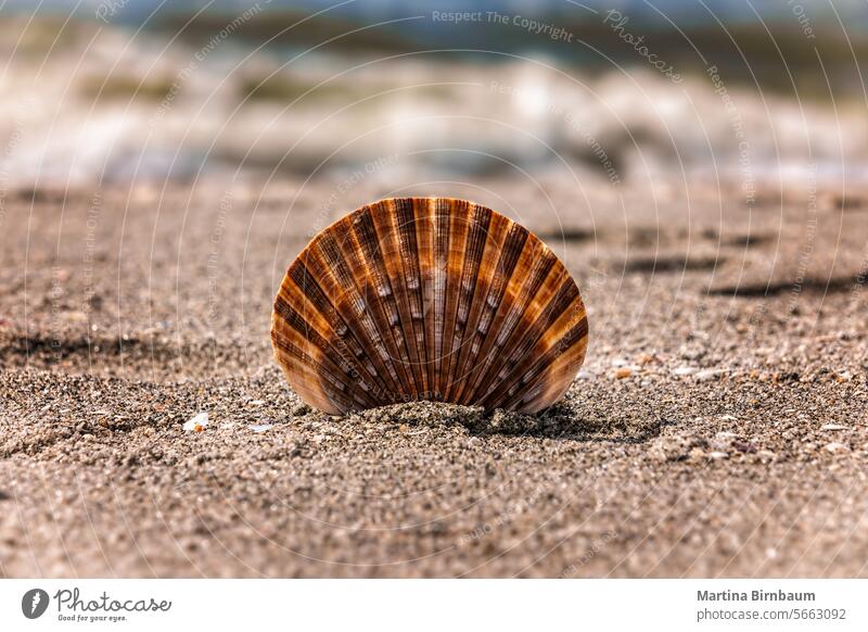
[[[587,341],[551,250],[448,198],[382,200],[321,231],[271,317],[290,385],[332,415],[417,400],[536,413],[570,388]]]

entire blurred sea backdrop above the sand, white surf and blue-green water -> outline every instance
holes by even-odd
[[[11,0],[0,49],[7,188],[866,177],[859,0]]]

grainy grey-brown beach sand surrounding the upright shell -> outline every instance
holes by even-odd
[[[868,577],[868,206],[628,197],[562,233],[484,185],[588,306],[536,417],[297,399],[270,303],[326,184],[9,191],[0,574]]]

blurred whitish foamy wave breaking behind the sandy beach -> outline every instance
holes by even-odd
[[[231,37],[196,49],[114,27],[53,40],[3,28],[7,188],[215,169],[340,177],[386,156],[397,157],[366,177],[563,167],[610,186],[697,174],[797,184],[807,168],[861,180],[868,164],[864,103],[725,76],[674,85],[653,69],[591,75],[546,59],[281,59]]]

